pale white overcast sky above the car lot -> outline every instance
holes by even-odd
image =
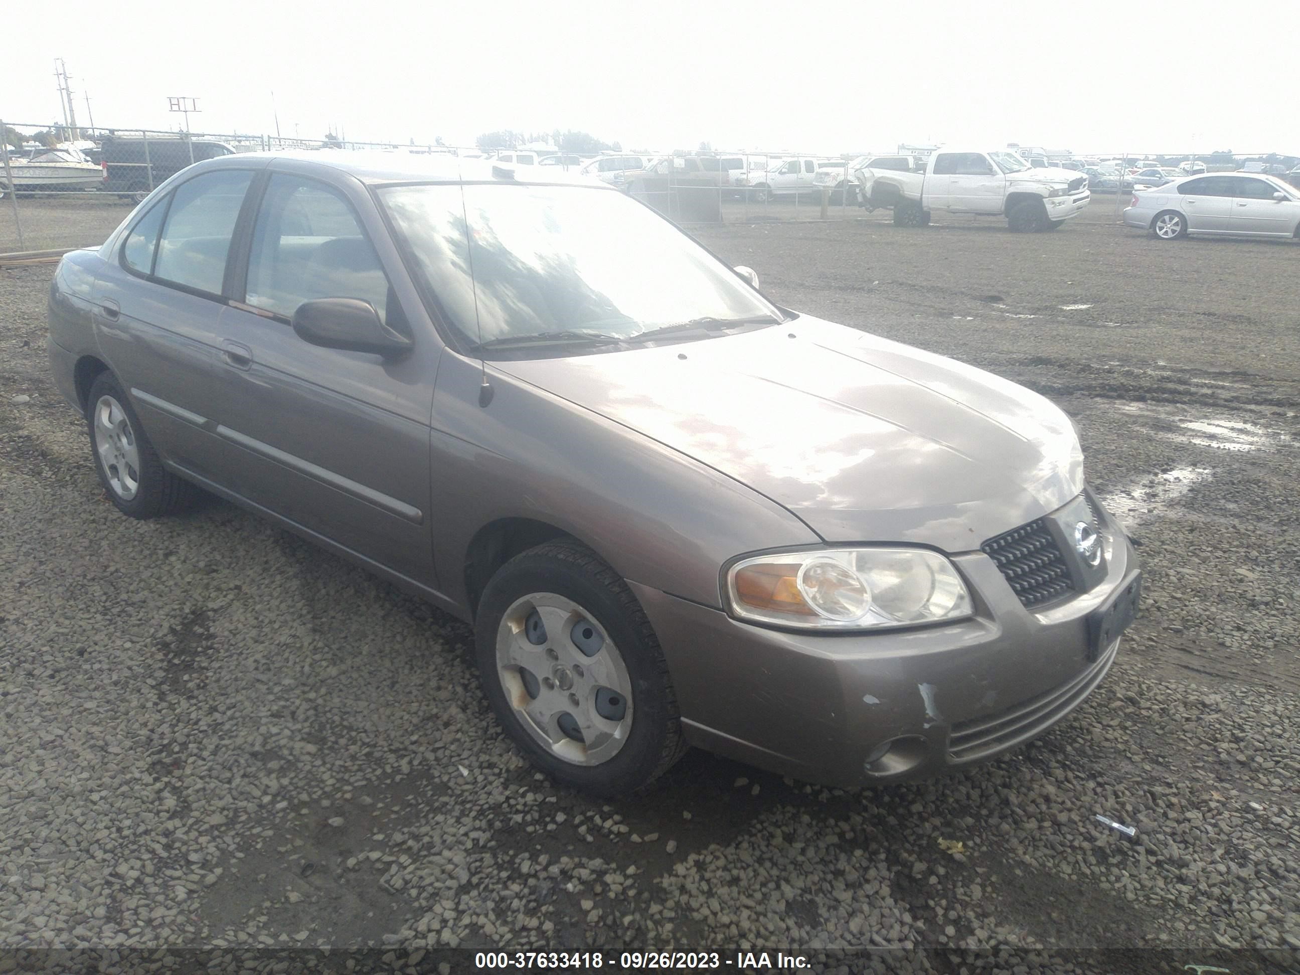
[[[22,4],[0,117],[472,144],[581,129],[624,148],[838,155],[898,142],[1300,152],[1283,8],[1072,0]],[[1205,16],[1200,16],[1200,10]],[[1205,25],[1230,17],[1232,29]],[[1274,29],[1266,25],[1277,21]],[[1248,23],[1251,26],[1248,26]]]

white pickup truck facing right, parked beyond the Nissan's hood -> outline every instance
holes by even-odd
[[[1088,177],[1032,168],[1010,150],[936,150],[924,173],[859,169],[867,205],[893,208],[898,226],[926,226],[933,213],[1005,216],[1011,230],[1054,230],[1088,205]]]

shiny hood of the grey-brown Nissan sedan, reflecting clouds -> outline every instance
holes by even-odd
[[[1083,489],[1074,428],[1044,396],[809,316],[493,365],[728,474],[828,541],[970,551]]]

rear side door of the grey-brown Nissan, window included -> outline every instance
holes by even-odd
[[[146,211],[95,283],[95,333],[165,462],[225,484],[218,321],[255,173],[209,170]]]

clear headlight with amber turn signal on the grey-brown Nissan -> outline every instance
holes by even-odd
[[[927,549],[758,555],[727,572],[732,614],[800,629],[878,629],[971,615],[953,564]]]

